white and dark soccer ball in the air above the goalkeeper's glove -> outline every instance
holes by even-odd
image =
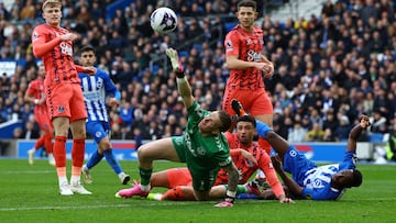
[[[174,31],[177,26],[176,13],[166,7],[156,9],[150,15],[152,29],[160,34],[167,34]]]

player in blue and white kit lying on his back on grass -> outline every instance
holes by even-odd
[[[243,108],[239,103],[239,114]],[[290,193],[299,199],[338,200],[346,188],[359,187],[362,174],[356,169],[356,142],[363,130],[370,126],[369,116],[361,115],[349,134],[344,159],[338,164],[317,166],[299,153],[295,146],[276,134],[268,125],[257,121],[257,134],[268,141],[277,152],[273,164]],[[282,168],[283,163],[283,168]],[[286,172],[292,174],[293,179]]]

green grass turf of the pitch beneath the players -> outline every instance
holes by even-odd
[[[132,178],[135,161],[122,161]],[[68,164],[68,167],[70,164]],[[155,170],[174,167],[155,163]],[[92,196],[58,194],[55,169],[45,160],[30,166],[26,160],[0,160],[1,222],[396,222],[396,166],[359,165],[363,185],[340,201],[238,200],[233,208],[215,208],[211,202],[173,202],[117,199],[122,186],[106,161],[92,171]],[[70,170],[68,169],[68,172]],[[162,190],[157,190],[162,191]]]

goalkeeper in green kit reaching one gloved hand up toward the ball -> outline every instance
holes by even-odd
[[[194,196],[197,200],[209,200],[210,188],[220,168],[229,175],[228,190],[223,202],[217,207],[232,207],[237,194],[238,169],[232,163],[227,138],[222,132],[231,125],[231,118],[224,111],[204,110],[193,97],[177,52],[166,49],[176,75],[177,90],[187,109],[188,122],[184,135],[161,138],[142,145],[138,149],[141,183],[118,192],[120,197],[139,194],[147,197],[153,171],[153,161],[166,159],[186,163],[191,172]]]

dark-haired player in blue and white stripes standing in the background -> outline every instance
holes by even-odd
[[[82,66],[94,66],[97,57],[92,46],[81,47],[79,63]],[[110,118],[106,104],[108,100],[110,107],[117,107],[121,98],[120,91],[105,70],[97,68],[95,75],[78,73],[78,77],[81,79],[84,103],[88,113],[86,129],[98,144],[98,150],[92,154],[88,163],[82,167],[85,181],[86,183],[92,182],[90,170],[105,157],[121,183],[127,185],[130,176],[122,171],[111,148]]]

